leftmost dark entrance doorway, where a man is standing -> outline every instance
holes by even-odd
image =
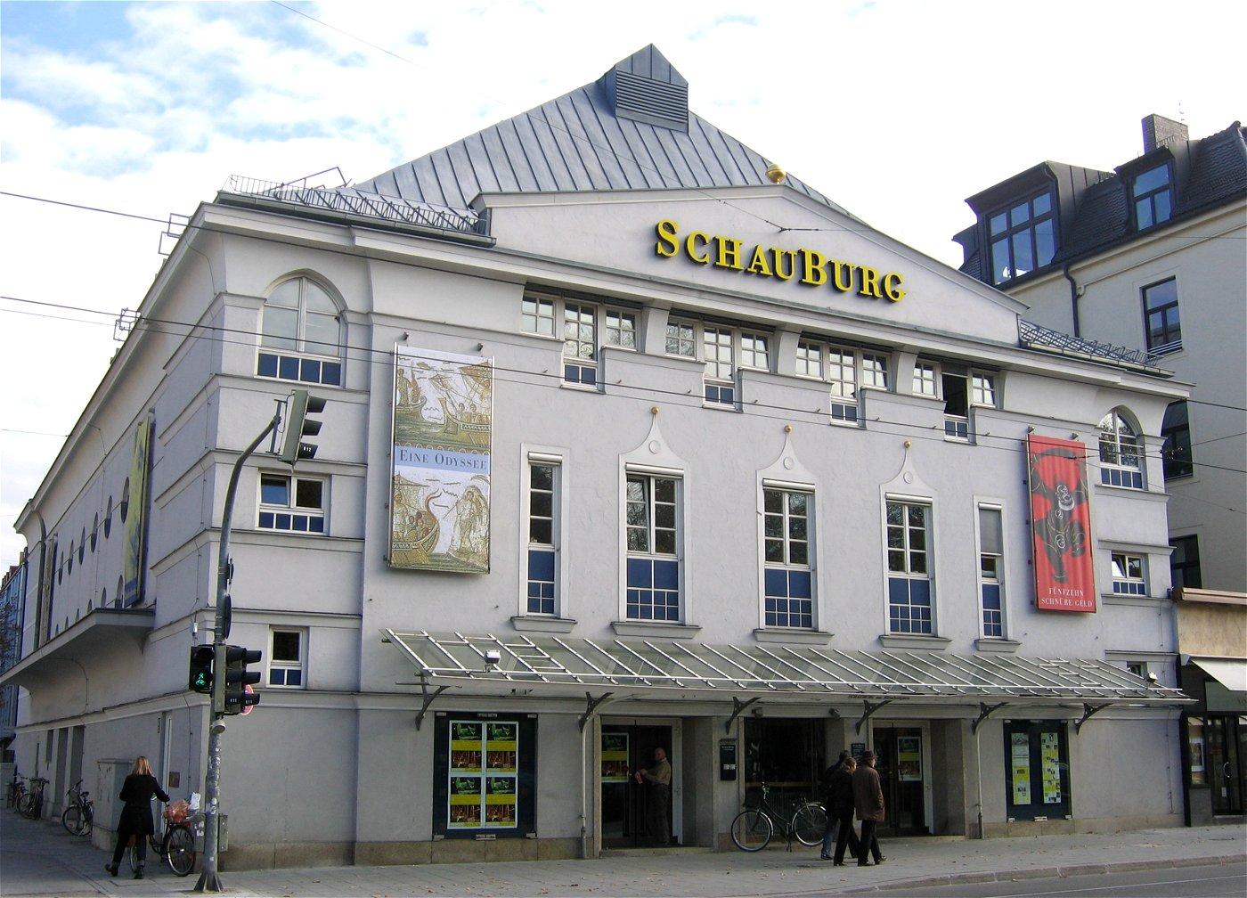
[[[662,748],[667,761],[676,763],[672,728],[670,725],[602,723],[601,775],[602,775],[602,846],[606,848],[655,848],[661,837],[651,832],[653,813],[665,813],[667,844],[678,844],[678,833],[672,828],[672,796],[666,789],[666,807],[651,808],[660,798],[660,791],[648,783],[637,783],[636,771],[653,766],[653,750]],[[672,768],[673,770],[673,768]],[[675,783],[672,782],[672,786]]]

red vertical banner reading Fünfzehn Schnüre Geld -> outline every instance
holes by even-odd
[[[1030,529],[1035,549],[1035,606],[1095,611],[1087,448],[1076,440],[1026,438]]]

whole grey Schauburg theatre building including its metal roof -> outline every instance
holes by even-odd
[[[692,113],[653,47],[367,183],[233,181],[19,520],[20,760],[201,789],[226,484],[307,388],[315,456],[254,456],[234,511],[264,680],[227,868],[592,857],[658,801],[726,848],[867,747],[892,832],[1180,824],[1186,700],[1126,662],[1176,651],[1188,390],[1024,311]],[[1137,485],[1085,456],[1109,413]]]

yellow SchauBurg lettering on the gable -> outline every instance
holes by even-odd
[[[829,259],[817,249],[781,249],[758,244],[748,251],[743,241],[705,231],[690,231],[681,237],[680,226],[670,220],[660,221],[653,231],[658,237],[653,252],[663,258],[672,258],[682,252],[697,264],[781,281],[798,278],[798,283],[808,287],[826,284],[839,293],[857,291],[858,296],[869,299],[900,302],[905,298],[905,291],[900,289],[903,278],[899,272],[880,274],[878,268]]]

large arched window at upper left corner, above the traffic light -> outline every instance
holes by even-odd
[[[278,380],[342,384],[342,319],[323,287],[298,277],[264,301],[256,374]]]

